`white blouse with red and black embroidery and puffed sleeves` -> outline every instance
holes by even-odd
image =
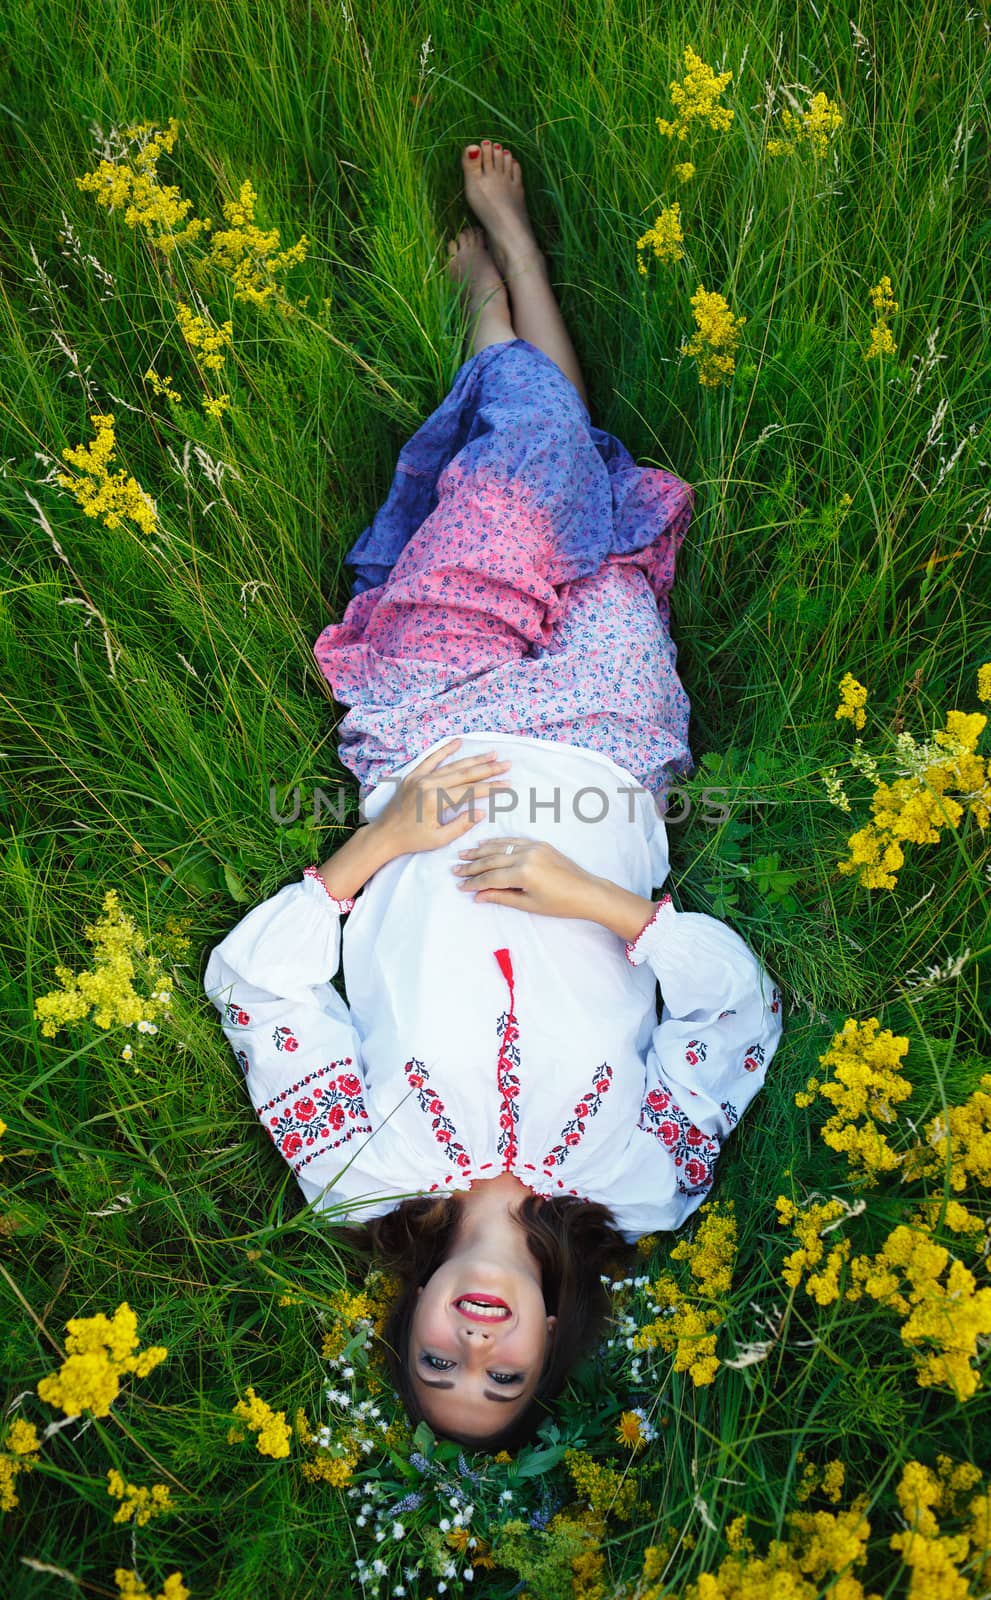
[[[442,742],[371,790],[368,821]],[[668,896],[624,944],[461,891],[458,851],[500,834],[546,838],[645,898],[669,870],[653,797],[608,757],[472,733],[451,760],[490,749],[512,766],[485,821],[395,858],[354,901],[309,867],[216,946],[205,989],[315,1208],[365,1221],[516,1173],[605,1203],[628,1238],[679,1227],[764,1083],[781,997],[738,934]],[[344,912],[347,1003],[330,982]]]

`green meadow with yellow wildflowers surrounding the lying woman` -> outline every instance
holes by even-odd
[[[11,1600],[991,1594],[989,46],[981,0],[5,8]],[[679,139],[656,118],[687,48],[732,74],[733,115]],[[101,160],[134,179],[170,118],[130,219],[80,187]],[[347,1299],[365,1267],[306,1210],[202,992],[210,947],[357,826],[312,642],[463,362],[445,242],[483,136],[522,162],[592,419],[696,486],[668,888],[784,992],[688,1251],[647,1242],[612,1344],[509,1461],[403,1427],[375,1306]],[[245,182],[266,237],[224,256]],[[640,272],[676,202],[680,259],[645,246]],[[744,318],[712,386],[682,349],[700,286]],[[845,674],[866,702],[837,717]],[[75,984],[98,968],[114,1016],[133,979],[154,1021],[102,1026]],[[46,1032],[50,994],[77,1002]],[[88,1323],[107,1403],[74,1406],[67,1376],[42,1398],[70,1318],[125,1302],[167,1354],[125,1370],[122,1320]],[[282,1430],[239,1426],[248,1390]]]

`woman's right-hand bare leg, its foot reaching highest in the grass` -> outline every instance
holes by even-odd
[[[491,139],[482,139],[480,146],[464,147],[461,168],[464,198],[485,226],[493,261],[509,288],[517,338],[528,339],[549,355],[572,379],[588,408],[588,392],[575,346],[527,214],[520,163]]]

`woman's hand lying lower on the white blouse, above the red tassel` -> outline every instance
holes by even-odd
[[[512,845],[512,853],[506,846]],[[597,922],[602,880],[543,838],[487,838],[461,850],[451,870],[458,888],[477,901],[516,906],[540,917],[583,917]]]

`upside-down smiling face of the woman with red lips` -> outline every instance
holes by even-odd
[[[557,1318],[540,1280],[506,1261],[451,1256],[418,1290],[408,1363],[437,1434],[487,1438],[527,1410]]]

